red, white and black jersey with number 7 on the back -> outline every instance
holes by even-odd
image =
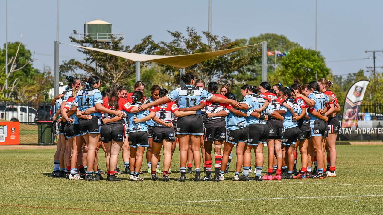
[[[214,94],[214,96],[221,97],[226,99],[225,96],[221,94]],[[205,111],[206,113],[218,113],[219,111],[223,111],[223,109],[231,109],[233,106],[231,106],[228,103],[216,103],[216,102],[211,102],[211,101],[206,101],[206,100],[201,100],[200,103],[205,104]],[[223,116],[216,116],[216,117],[211,117],[211,118],[206,118],[206,121],[204,123],[205,127],[208,127],[210,129],[216,129],[220,127],[226,126],[226,121],[225,117]]]

